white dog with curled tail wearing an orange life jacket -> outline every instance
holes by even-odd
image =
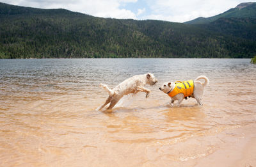
[[[199,79],[204,79],[205,82],[201,83],[200,81],[198,81]],[[159,88],[159,90],[163,91],[164,93],[167,93],[171,97],[172,104],[175,100],[178,100],[177,105],[179,106],[183,99],[187,99],[187,97],[193,97],[196,99],[198,104],[202,106],[203,104],[201,100],[204,95],[204,88],[205,86],[207,86],[207,84],[209,84],[209,79],[205,76],[199,76],[195,79],[195,81],[189,80],[184,81],[183,83],[164,83],[163,86]],[[191,90],[189,90],[189,88],[191,88]],[[177,91],[173,93],[175,90]],[[185,93],[180,93],[182,92],[181,90],[183,90],[183,92]],[[186,91],[189,91],[189,93],[187,93]]]

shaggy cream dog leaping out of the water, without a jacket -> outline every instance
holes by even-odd
[[[108,109],[112,109],[124,95],[128,95],[131,93],[136,94],[139,91],[143,91],[146,93],[147,98],[150,90],[144,88],[143,86],[145,86],[146,84],[154,85],[156,83],[156,77],[154,77],[153,74],[148,73],[125,79],[125,81],[118,84],[115,88],[113,88],[113,90],[109,89],[106,84],[100,84],[100,86],[109,93],[109,97],[106,102],[99,108],[99,110],[109,104],[109,102],[110,104]]]

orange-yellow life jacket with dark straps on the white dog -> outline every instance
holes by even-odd
[[[175,88],[173,89],[173,91],[170,91],[167,94],[170,97],[174,97],[175,95],[177,95],[179,93],[183,93],[184,98],[186,98],[186,97],[191,96],[193,91],[194,91],[194,81],[191,79],[191,80],[184,81],[184,82],[176,81]]]

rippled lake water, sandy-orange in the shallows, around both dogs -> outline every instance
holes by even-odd
[[[152,93],[96,111],[128,77],[152,72]],[[203,107],[171,107],[166,81],[209,77]],[[0,60],[0,166],[196,166],[256,136],[256,65],[233,59]],[[227,132],[252,127],[252,132]],[[250,130],[251,131],[251,130]],[[256,139],[256,138],[255,138]],[[206,161],[211,163],[210,161]]]

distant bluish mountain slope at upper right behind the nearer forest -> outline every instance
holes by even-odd
[[[241,3],[227,12],[185,22],[225,35],[256,40],[256,3]]]

